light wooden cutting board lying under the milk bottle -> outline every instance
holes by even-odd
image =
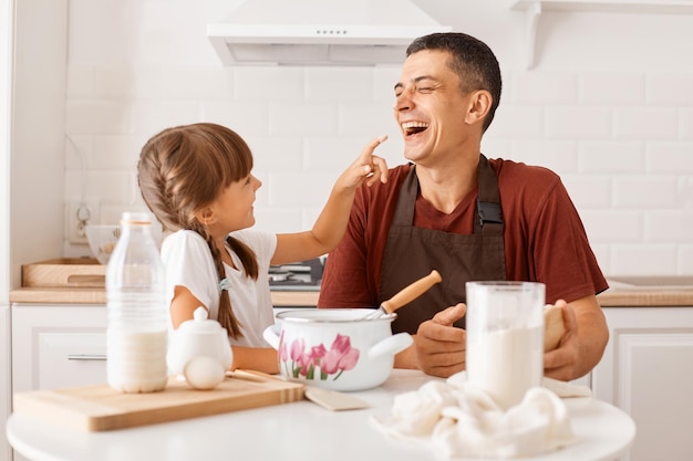
[[[17,413],[85,431],[107,431],[299,401],[304,386],[276,378],[226,378],[195,390],[172,377],[163,391],[123,394],[107,385],[14,394]]]

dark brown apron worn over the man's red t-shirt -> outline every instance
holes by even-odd
[[[484,155],[479,157],[478,190],[474,233],[449,233],[412,226],[418,196],[415,167],[404,180],[385,243],[379,301],[392,297],[433,269],[443,281],[397,310],[393,333],[415,334],[418,325],[437,312],[464,303],[465,282],[506,280],[498,178]],[[455,325],[464,327],[464,318]]]

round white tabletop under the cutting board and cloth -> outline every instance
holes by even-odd
[[[400,370],[379,388],[356,392],[371,408],[333,412],[300,401],[108,432],[81,432],[12,415],[10,444],[33,461],[426,461],[442,460],[432,447],[396,442],[370,426],[373,413],[389,415],[396,394],[434,379]],[[592,398],[566,399],[575,446],[532,461],[607,461],[624,454],[635,425]]]

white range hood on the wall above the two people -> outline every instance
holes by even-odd
[[[447,32],[411,0],[247,0],[207,25],[221,62],[401,64],[413,39]]]

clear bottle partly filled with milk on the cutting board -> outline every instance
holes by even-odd
[[[166,271],[152,234],[152,217],[125,212],[106,269],[106,373],[123,392],[166,387]]]

